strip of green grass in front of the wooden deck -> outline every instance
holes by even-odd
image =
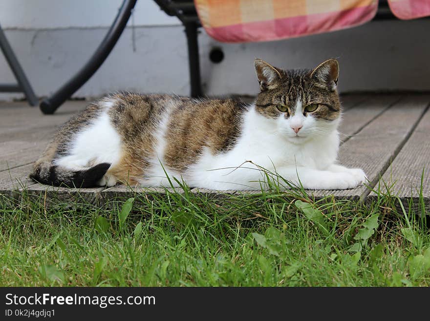
[[[0,196],[0,285],[430,285],[424,206],[184,189],[103,206]]]

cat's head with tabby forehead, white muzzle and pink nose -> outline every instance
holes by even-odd
[[[275,121],[278,134],[300,144],[336,130],[341,116],[337,60],[313,70],[282,70],[256,59],[255,69],[261,89],[256,110]]]

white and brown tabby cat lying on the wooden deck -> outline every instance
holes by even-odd
[[[310,190],[364,183],[364,171],[336,163],[337,60],[282,70],[256,59],[255,71],[260,92],[250,105],[162,94],[102,98],[60,128],[30,177],[84,188],[179,186],[176,178],[190,187],[259,190],[266,171]]]

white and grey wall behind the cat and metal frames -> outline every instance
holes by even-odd
[[[121,2],[0,0],[0,23],[37,96],[52,94],[85,64],[105,36]],[[183,26],[160,11],[152,0],[137,3],[134,28],[130,20],[108,59],[74,97],[98,97],[116,90],[189,94]],[[333,57],[340,62],[341,92],[429,91],[429,27],[430,19],[372,21],[321,35],[237,44],[217,43],[201,29],[204,93],[255,94],[255,58],[279,67],[311,68]],[[208,58],[216,46],[225,53],[220,64]],[[0,54],[0,83],[14,82]],[[21,93],[0,93],[0,100],[21,97]]]

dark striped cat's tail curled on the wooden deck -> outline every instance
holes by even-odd
[[[90,188],[99,182],[110,167],[109,163],[97,164],[85,170],[68,170],[50,162],[36,163],[30,178],[36,182],[54,186]]]

